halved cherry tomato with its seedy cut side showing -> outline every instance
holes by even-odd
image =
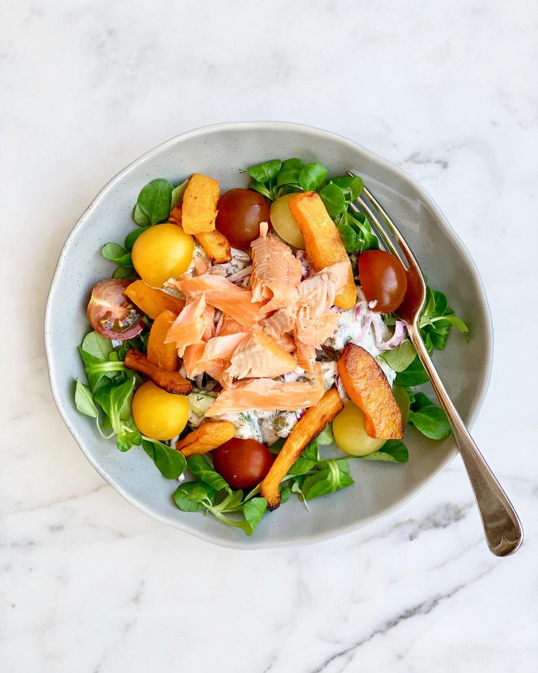
[[[132,339],[144,328],[143,314],[123,293],[128,285],[129,281],[110,279],[91,291],[86,314],[93,329],[107,339]]]

